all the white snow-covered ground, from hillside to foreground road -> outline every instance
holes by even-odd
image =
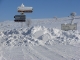
[[[80,60],[80,16],[76,31],[62,31],[71,18],[32,19],[26,23],[0,22],[0,60]]]

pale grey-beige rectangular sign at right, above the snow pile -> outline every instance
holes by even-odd
[[[77,23],[74,24],[61,24],[61,30],[77,30]]]

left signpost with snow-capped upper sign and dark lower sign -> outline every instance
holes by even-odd
[[[23,4],[18,7],[18,12],[20,15],[15,15],[14,16],[14,22],[26,22],[26,15],[24,13],[32,13],[33,12],[33,7],[25,7]],[[23,24],[21,24],[22,27]]]

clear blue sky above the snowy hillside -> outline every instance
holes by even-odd
[[[21,4],[33,7],[33,13],[27,13],[31,19],[67,17],[71,12],[80,15],[80,0],[0,0],[0,21],[14,20]]]

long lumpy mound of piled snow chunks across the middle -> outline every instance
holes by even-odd
[[[80,33],[78,31],[62,31],[44,26],[0,32],[0,45],[2,46],[52,45],[53,43],[80,44]]]

